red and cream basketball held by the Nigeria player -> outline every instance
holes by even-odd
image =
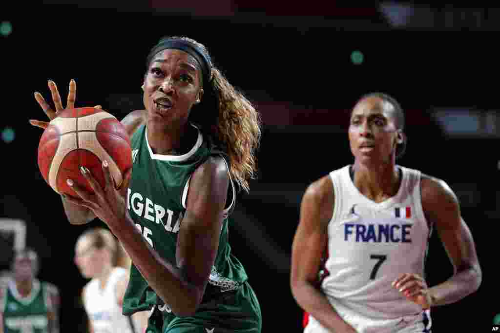
[[[116,187],[132,166],[130,139],[123,125],[101,109],[80,107],[60,111],[43,131],[38,145],[38,168],[57,193],[78,197],[66,183],[72,179],[93,192],[80,172],[86,167],[104,188],[102,161],[106,160]]]

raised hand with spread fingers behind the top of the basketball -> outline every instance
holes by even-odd
[[[55,82],[52,80],[48,80],[48,89],[50,89],[50,93],[52,94],[52,102],[54,103],[55,106],[55,111],[50,107],[50,105],[45,101],[43,96],[39,92],[34,93],[34,99],[38,102],[38,105],[40,105],[41,109],[45,114],[47,115],[49,121],[57,117],[57,113],[66,109],[72,109],[74,108],[74,102],[76,100],[76,82],[71,79],[69,81],[69,92],[67,94],[67,102],[66,102],[66,107],[63,108],[61,104],[61,97],[59,95],[59,91],[57,90],[57,86],[55,85]],[[100,105],[94,106],[96,109],[100,109]],[[33,120],[30,119],[29,123],[33,126],[40,127],[45,129],[48,125],[48,122],[46,121],[41,121],[41,120]]]

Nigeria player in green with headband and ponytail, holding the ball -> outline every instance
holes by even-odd
[[[122,120],[132,144],[128,188],[114,189],[105,161],[105,188],[82,168],[95,194],[68,179],[79,198],[63,199],[66,214],[71,223],[97,216],[123,244],[133,263],[123,312],[152,308],[148,333],[260,332],[258,301],[230,253],[227,223],[236,189],[247,191],[255,172],[258,113],[192,39],[161,39],[146,65],[145,110]],[[68,108],[74,89],[73,81]]]

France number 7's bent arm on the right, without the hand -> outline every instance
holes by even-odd
[[[445,182],[425,176],[421,189],[425,217],[435,225],[454,271],[451,278],[428,289],[431,305],[451,304],[475,292],[481,284],[474,241],[460,215],[458,200]]]

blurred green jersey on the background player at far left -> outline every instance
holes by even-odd
[[[2,298],[0,312],[4,333],[48,332],[50,299],[45,283],[34,280],[29,296],[21,297],[15,282],[9,281],[3,288]]]

